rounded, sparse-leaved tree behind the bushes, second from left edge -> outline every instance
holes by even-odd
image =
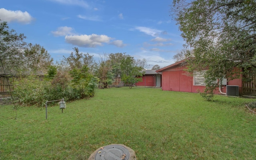
[[[48,68],[52,65],[53,58],[51,58],[48,51],[39,44],[28,44],[28,48],[24,51],[24,57],[29,68],[35,74],[46,74]]]

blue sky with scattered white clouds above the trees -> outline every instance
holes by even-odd
[[[54,62],[74,50],[146,59],[148,69],[168,66],[184,40],[170,16],[172,0],[2,0],[0,19],[43,46]]]

